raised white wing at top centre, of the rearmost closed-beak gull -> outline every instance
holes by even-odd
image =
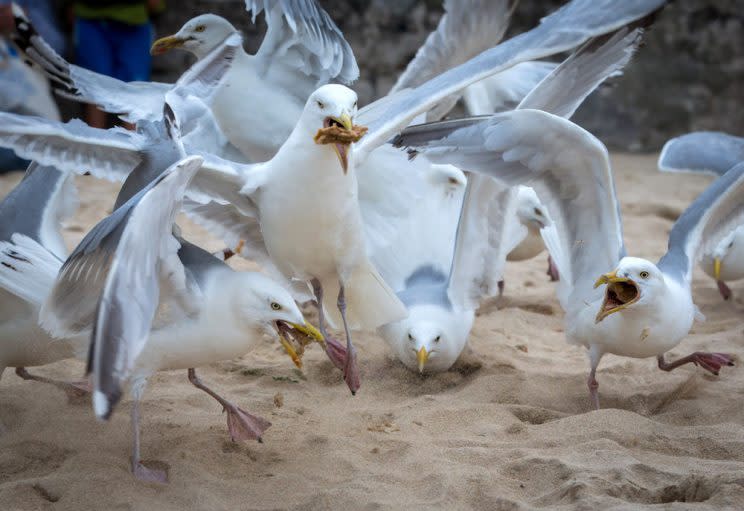
[[[264,71],[281,63],[315,78],[316,85],[359,77],[351,46],[315,0],[246,0],[245,8],[254,22],[266,15],[268,30],[256,54]]]

